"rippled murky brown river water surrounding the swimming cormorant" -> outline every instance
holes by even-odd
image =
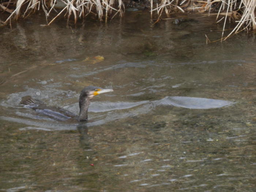
[[[0,29],[1,190],[255,190],[254,38],[205,45],[221,36],[214,18],[148,18]],[[19,105],[31,95],[77,114],[90,84],[114,92],[86,125]]]

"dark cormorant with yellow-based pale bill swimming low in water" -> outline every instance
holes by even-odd
[[[85,87],[79,97],[79,116],[76,116],[74,113],[69,112],[68,110],[46,106],[44,102],[33,99],[29,96],[26,96],[20,102],[25,108],[34,109],[38,113],[42,113],[48,117],[54,118],[58,121],[65,121],[69,118],[76,118],[78,121],[87,121],[87,112],[90,105],[91,99],[98,94],[107,93],[113,91],[113,89],[102,89],[100,87],[88,86]]]

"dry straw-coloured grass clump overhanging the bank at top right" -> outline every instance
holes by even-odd
[[[217,13],[217,22],[223,20],[223,30],[221,41],[226,40],[232,34],[239,33],[242,30],[256,30],[256,0],[161,0],[160,4],[153,8],[153,0],[151,1],[151,17],[152,12],[157,12],[158,22],[165,12],[169,18],[170,14],[177,11],[198,11],[201,13],[212,14],[214,11]],[[226,23],[235,21],[237,25],[226,36],[223,37]],[[208,38],[207,38],[208,39]]]

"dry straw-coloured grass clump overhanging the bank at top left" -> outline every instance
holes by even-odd
[[[57,12],[57,15],[48,23],[52,23],[58,16],[65,13],[65,16],[68,18],[73,16],[76,23],[78,18],[84,18],[89,14],[97,15],[99,20],[105,21],[108,20],[109,15],[116,16],[118,13],[120,16],[123,16],[124,13],[124,3],[121,0],[58,0],[63,2],[65,6],[61,11],[56,11],[54,5],[56,5],[57,0],[14,0],[11,2],[16,5],[15,10],[9,11],[11,14],[5,20],[3,25],[11,22],[11,19],[18,19],[21,14],[21,8],[25,7],[26,10],[23,11],[22,17],[26,17],[39,9],[42,9],[45,12],[46,21],[48,22],[48,17],[50,13]],[[115,3],[117,3],[115,8]],[[1,5],[1,4],[0,4]],[[0,7],[2,10],[6,11],[6,8],[3,4]],[[9,9],[8,9],[9,10]],[[116,12],[115,14],[112,14]],[[112,19],[111,18],[111,19]]]

